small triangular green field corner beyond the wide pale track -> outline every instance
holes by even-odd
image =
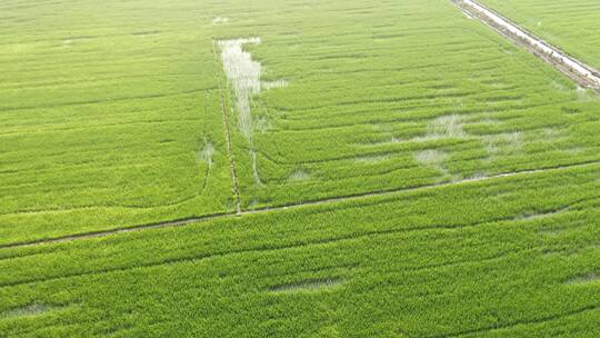
[[[513,22],[600,69],[600,2],[482,0]]]

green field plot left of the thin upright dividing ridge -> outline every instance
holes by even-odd
[[[0,245],[232,210],[212,16],[148,4],[0,3]]]

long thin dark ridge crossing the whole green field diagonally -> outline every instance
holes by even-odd
[[[254,210],[241,210],[241,207],[240,207],[240,211],[238,212],[214,213],[214,215],[172,220],[172,221],[166,221],[166,222],[146,223],[146,225],[139,225],[139,226],[133,226],[133,227],[128,227],[128,228],[118,228],[118,229],[111,229],[111,230],[84,232],[84,233],[69,235],[69,236],[40,239],[40,240],[33,240],[33,241],[7,243],[7,245],[0,245],[0,249],[26,248],[26,247],[33,247],[33,246],[40,246],[40,245],[61,243],[61,242],[80,240],[80,239],[101,238],[101,237],[107,237],[111,235],[134,232],[134,231],[141,231],[141,230],[174,228],[174,227],[182,227],[182,226],[188,226],[196,222],[204,222],[204,221],[210,221],[210,220],[232,219],[232,218],[240,218],[240,217],[249,216],[249,215],[277,212],[277,211],[282,211],[282,210],[299,209],[299,208],[311,207],[311,206],[313,207],[313,206],[333,205],[338,202],[348,202],[348,201],[360,200],[360,199],[372,198],[372,197],[393,196],[396,193],[401,193],[401,192],[427,191],[430,189],[437,189],[437,188],[443,188],[443,187],[460,186],[460,185],[467,185],[467,183],[489,181],[489,180],[494,180],[494,179],[500,179],[500,178],[528,176],[528,175],[568,170],[568,169],[574,169],[574,168],[584,168],[584,167],[591,167],[594,165],[600,165],[600,160],[589,160],[589,161],[579,162],[579,163],[550,166],[550,167],[540,168],[540,169],[526,169],[526,170],[518,170],[518,171],[511,171],[511,172],[501,172],[501,173],[490,175],[486,177],[467,178],[462,180],[431,183],[431,185],[424,185],[424,186],[412,187],[412,188],[397,188],[397,189],[371,191],[371,192],[350,195],[350,196],[343,196],[343,197],[324,198],[320,200],[306,201],[306,202],[293,203],[293,205],[283,205],[283,206],[277,206],[277,207],[266,207],[266,208],[254,209]]]

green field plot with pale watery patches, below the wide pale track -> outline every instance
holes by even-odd
[[[216,29],[247,209],[598,158],[598,98],[450,2],[261,4]]]

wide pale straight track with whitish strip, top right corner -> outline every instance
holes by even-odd
[[[600,72],[581,60],[567,54],[510,19],[474,0],[450,0],[469,18],[474,18],[497,31],[507,40],[527,49],[529,52],[561,71],[581,87],[600,93]]]

